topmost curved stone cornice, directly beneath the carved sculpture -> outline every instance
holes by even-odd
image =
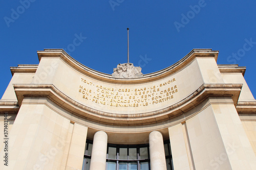
[[[109,82],[109,83],[115,83],[115,84],[139,84],[139,83],[145,83],[145,82],[151,82],[155,80],[162,79],[166,76],[174,74],[176,71],[186,67],[187,64],[189,64],[193,59],[196,57],[214,57],[217,61],[219,51],[212,51],[211,49],[194,49],[191,52],[189,52],[185,57],[183,57],[180,61],[177,63],[164,68],[162,70],[145,74],[141,78],[134,78],[134,79],[119,79],[119,78],[113,78],[112,75],[105,74],[100,71],[96,71],[94,69],[91,69],[78,61],[76,61],[74,58],[69,56],[65,51],[62,49],[45,49],[44,51],[37,51],[38,59],[39,61],[41,58],[47,57],[47,58],[60,58],[62,61],[66,62],[70,66],[72,66],[74,69],[78,70],[84,75],[90,76],[94,79]]]

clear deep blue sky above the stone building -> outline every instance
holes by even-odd
[[[80,63],[112,74],[118,63],[126,62],[127,27],[130,62],[140,65],[143,74],[176,63],[193,48],[212,48],[219,51],[218,64],[247,67],[245,80],[256,96],[256,1],[25,0],[0,4],[0,98],[12,77],[10,66],[38,64],[36,51],[44,48],[66,48]],[[76,36],[81,41],[74,44]]]

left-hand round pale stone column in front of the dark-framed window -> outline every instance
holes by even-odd
[[[93,149],[90,170],[106,169],[106,147],[108,145],[108,135],[103,131],[94,134]]]

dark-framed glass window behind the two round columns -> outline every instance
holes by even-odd
[[[91,140],[87,140],[82,170],[89,170],[92,155]],[[173,158],[169,140],[164,141],[167,170],[173,170]],[[107,170],[150,170],[149,144],[108,144],[106,153]]]

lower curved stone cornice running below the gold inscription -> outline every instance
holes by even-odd
[[[153,112],[139,114],[116,114],[102,112],[78,103],[52,84],[14,84],[18,104],[26,97],[47,97],[61,108],[94,122],[118,126],[147,125],[176,117],[194,108],[208,97],[231,97],[236,105],[242,84],[203,84],[178,103]]]

